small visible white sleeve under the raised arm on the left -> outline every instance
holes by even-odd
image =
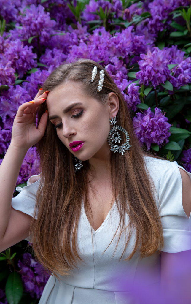
[[[12,198],[12,207],[15,210],[22,211],[34,217],[34,210],[36,204],[36,193],[40,184],[40,174],[31,176],[27,181],[26,187],[16,187],[20,192],[17,196]]]

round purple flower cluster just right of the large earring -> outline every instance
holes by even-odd
[[[137,117],[133,118],[135,134],[140,142],[146,143],[147,150],[150,149],[151,143],[161,147],[163,143],[169,142],[171,124],[167,121],[165,113],[158,108],[155,108],[155,113],[148,108],[145,114],[137,113]]]

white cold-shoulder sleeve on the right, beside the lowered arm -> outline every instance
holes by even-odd
[[[153,179],[159,216],[161,217],[164,247],[162,251],[176,253],[191,250],[191,217],[182,206],[182,178],[176,161],[151,159],[147,161]],[[191,174],[186,171],[191,179]]]

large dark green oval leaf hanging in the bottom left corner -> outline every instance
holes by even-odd
[[[23,285],[20,275],[14,271],[10,273],[6,286],[5,294],[9,304],[18,304],[22,298]]]

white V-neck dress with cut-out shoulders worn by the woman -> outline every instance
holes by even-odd
[[[155,202],[161,216],[164,247],[162,251],[176,253],[191,249],[191,220],[182,207],[182,179],[177,162],[145,157],[146,166],[154,182]],[[186,170],[185,170],[186,171]],[[191,178],[191,174],[186,171]],[[12,199],[12,207],[33,216],[39,180],[26,187],[17,187],[19,195]],[[37,178],[36,178],[37,179]],[[126,216],[128,224],[128,216]],[[118,236],[110,244],[117,230],[119,214],[112,206],[103,224],[94,231],[87,219],[84,206],[79,221],[77,241],[84,261],[60,282],[50,276],[39,304],[132,304],[132,290],[142,277],[142,285],[157,289],[160,282],[160,255],[139,259],[139,252],[124,261],[132,252],[135,233],[128,243],[123,258],[126,234],[122,233],[114,254]],[[106,250],[107,248],[107,250]],[[106,251],[105,251],[106,250]],[[104,252],[105,251],[105,252]]]

